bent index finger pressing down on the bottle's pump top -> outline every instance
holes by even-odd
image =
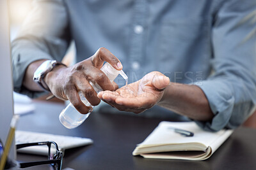
[[[113,66],[117,70],[121,70],[123,68],[120,60],[118,60],[113,53],[109,52],[108,49],[101,47],[97,52],[92,56],[93,66],[97,68],[101,68],[103,66],[104,61],[108,62],[111,66]]]

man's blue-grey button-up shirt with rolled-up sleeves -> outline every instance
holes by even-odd
[[[198,122],[234,128],[256,103],[255,0],[38,0],[12,43],[13,81],[22,87],[28,65],[61,61],[71,40],[77,62],[104,46],[121,60],[129,81],[160,71],[198,85],[214,118]],[[124,81],[118,82],[124,85]]]

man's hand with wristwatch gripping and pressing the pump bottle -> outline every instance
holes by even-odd
[[[92,111],[92,107],[83,104],[78,94],[79,91],[83,92],[84,97],[92,106],[97,106],[100,103],[97,92],[95,92],[89,81],[97,83],[103,90],[113,91],[118,89],[116,83],[111,83],[106,74],[100,70],[104,61],[109,62],[117,70],[122,69],[120,60],[113,53],[106,48],[99,48],[92,57],[78,62],[74,66],[65,67],[59,65],[54,67],[45,76],[45,83],[47,83],[54,96],[59,99],[68,99],[77,111],[86,114]]]

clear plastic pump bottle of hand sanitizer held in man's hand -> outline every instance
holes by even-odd
[[[105,73],[106,76],[108,76],[108,78],[111,82],[115,80],[115,78],[118,76],[118,74],[120,74],[126,81],[128,79],[128,77],[126,76],[124,71],[116,70],[108,62],[106,62],[106,64],[104,64],[104,66],[102,66],[102,68],[100,70],[103,73]],[[93,89],[97,93],[102,91],[102,89],[100,88],[100,86],[97,83],[93,84],[92,82],[90,82],[90,84],[92,85]],[[82,92],[79,92],[79,96],[80,96],[81,101],[86,106],[92,106],[87,101],[87,99],[84,97]],[[84,120],[86,120],[86,118],[89,117],[89,115],[90,115],[90,113],[87,113],[85,115],[79,113],[79,111],[77,111],[76,108],[74,108],[74,106],[71,103],[69,103],[68,106],[65,108],[65,110],[61,111],[59,119],[60,119],[61,124],[63,124],[65,127],[67,127],[68,129],[74,129],[75,127],[81,125],[84,122]]]

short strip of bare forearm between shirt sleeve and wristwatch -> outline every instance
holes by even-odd
[[[35,62],[32,62],[29,64],[29,66],[26,69],[26,73],[24,76],[24,79],[22,81],[22,85],[26,87],[26,89],[31,90],[31,91],[44,91],[42,87],[38,85],[35,81],[33,81],[33,76],[36,71],[36,69],[45,61],[46,59],[43,60],[36,60]]]

